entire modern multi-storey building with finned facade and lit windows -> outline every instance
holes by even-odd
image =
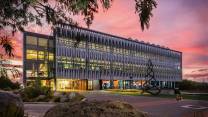
[[[24,32],[25,85],[39,78],[57,91],[140,88],[148,60],[160,87],[182,80],[181,52],[67,24],[53,32]]]

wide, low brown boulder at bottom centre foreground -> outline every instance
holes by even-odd
[[[58,104],[44,117],[147,117],[147,114],[121,101],[77,101]]]

